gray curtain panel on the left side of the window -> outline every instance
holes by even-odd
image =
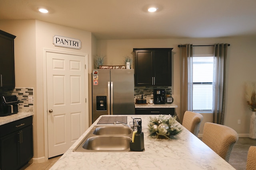
[[[193,49],[192,44],[180,45],[180,123],[185,111],[193,111]]]

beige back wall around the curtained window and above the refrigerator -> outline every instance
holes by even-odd
[[[244,100],[244,84],[256,81],[256,38],[236,37],[229,39],[142,39],[142,40],[98,40],[98,54],[106,55],[106,65],[122,64],[124,55],[133,55],[133,48],[174,48],[172,50],[172,97],[178,105],[176,114],[180,114],[180,52],[178,45],[212,45],[230,43],[227,58],[226,78],[226,116],[224,124],[232,127],[242,136],[248,136],[250,110]],[[196,48],[196,47],[195,47]],[[200,47],[202,48],[202,47]],[[134,64],[132,66],[134,68]],[[210,121],[212,115],[204,115],[204,122]],[[238,119],[241,124],[238,124]],[[201,125],[201,129],[203,127]],[[202,130],[200,130],[202,133]]]

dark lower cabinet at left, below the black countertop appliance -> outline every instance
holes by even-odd
[[[32,116],[0,126],[0,170],[18,170],[32,157]]]

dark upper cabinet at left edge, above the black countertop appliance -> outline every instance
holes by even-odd
[[[15,35],[0,30],[0,88],[15,88]]]

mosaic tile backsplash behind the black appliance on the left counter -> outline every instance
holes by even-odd
[[[14,90],[0,90],[0,94],[16,95],[19,101],[20,112],[33,112],[33,88],[15,88]]]

